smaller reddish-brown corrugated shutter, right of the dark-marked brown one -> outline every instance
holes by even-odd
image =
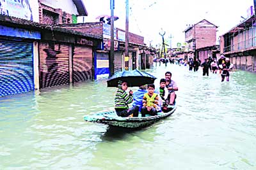
[[[73,55],[73,81],[92,79],[92,48],[75,46]]]

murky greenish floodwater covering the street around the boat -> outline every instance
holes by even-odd
[[[116,131],[83,116],[113,109],[106,80],[0,98],[0,169],[256,169],[256,75],[168,65],[179,86],[172,116]],[[136,87],[132,88],[136,90]]]

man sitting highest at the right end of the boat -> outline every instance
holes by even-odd
[[[174,105],[176,94],[175,91],[178,91],[177,84],[175,81],[172,80],[172,73],[170,71],[167,71],[165,73],[165,79],[166,79],[166,88],[168,89],[168,99],[167,104],[168,108],[172,108],[172,105]]]

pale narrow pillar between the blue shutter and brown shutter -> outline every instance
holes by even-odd
[[[38,42],[33,42],[33,65],[34,65],[34,84],[35,90],[39,90],[40,82],[39,82],[39,55],[38,55]]]

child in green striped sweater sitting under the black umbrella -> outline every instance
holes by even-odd
[[[125,92],[128,89],[126,81],[118,81],[118,90],[115,94],[115,111],[119,117],[138,117],[139,107],[134,106],[129,108],[128,104],[132,103],[132,90],[130,90],[129,94]]]

